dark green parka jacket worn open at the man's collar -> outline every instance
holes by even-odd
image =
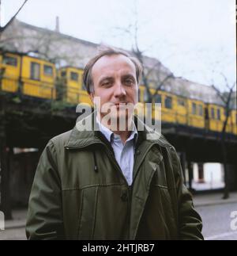
[[[29,199],[28,239],[203,239],[175,148],[138,132],[134,181],[126,182],[101,132],[51,139]]]

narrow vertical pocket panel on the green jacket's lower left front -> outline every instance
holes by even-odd
[[[92,240],[94,238],[97,201],[98,186],[82,190],[81,210],[77,227],[77,238],[80,240]]]

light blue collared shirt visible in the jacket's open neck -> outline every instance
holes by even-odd
[[[111,143],[111,147],[115,152],[115,159],[119,163],[122,170],[122,174],[126,178],[128,185],[133,183],[133,171],[134,171],[134,151],[137,143],[137,128],[134,125],[134,130],[131,131],[130,137],[126,139],[126,143],[122,143],[122,139],[118,134],[111,132],[111,130],[105,127],[96,118],[96,122],[99,125],[100,132]]]

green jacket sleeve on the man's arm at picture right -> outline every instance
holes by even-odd
[[[194,209],[193,198],[183,182],[182,166],[175,148],[172,147],[173,170],[178,199],[178,230],[180,240],[203,240],[201,216]]]

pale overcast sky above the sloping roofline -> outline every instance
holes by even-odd
[[[22,2],[2,0],[2,25]],[[194,82],[235,82],[235,0],[28,0],[18,19],[55,29],[58,16],[65,34],[130,49],[136,9],[145,55]]]

